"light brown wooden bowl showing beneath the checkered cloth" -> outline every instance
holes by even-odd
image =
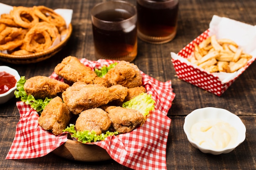
[[[82,144],[70,139],[52,152],[59,157],[76,161],[94,162],[111,159],[108,152],[97,145]]]

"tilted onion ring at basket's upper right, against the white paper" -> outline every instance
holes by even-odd
[[[46,22],[52,23],[55,26],[61,27],[65,26],[66,22],[62,18],[61,15],[54,12],[53,9],[47,8],[45,6],[34,6],[33,7],[35,14],[41,19]]]

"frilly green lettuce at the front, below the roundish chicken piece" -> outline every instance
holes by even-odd
[[[69,132],[71,134],[71,137],[76,138],[77,141],[83,144],[102,141],[108,136],[114,136],[118,134],[117,131],[115,132],[107,131],[105,134],[101,133],[100,135],[96,135],[96,132],[94,132],[94,130],[92,130],[91,132],[88,130],[80,132],[80,131],[76,131],[74,124],[70,124],[70,127],[67,127],[66,129],[64,129],[63,132]]]

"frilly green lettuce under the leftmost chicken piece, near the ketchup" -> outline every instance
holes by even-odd
[[[25,104],[30,105],[31,108],[34,108],[37,113],[41,113],[51,99],[48,99],[47,97],[44,100],[35,99],[33,95],[27,95],[24,90],[24,84],[26,81],[25,76],[20,77],[20,80],[17,82],[17,89],[14,91],[14,95],[16,98],[20,98],[22,102],[25,102]]]

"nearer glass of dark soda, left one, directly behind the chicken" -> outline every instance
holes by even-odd
[[[126,1],[107,1],[91,11],[95,57],[125,60],[137,56],[137,9]]]

